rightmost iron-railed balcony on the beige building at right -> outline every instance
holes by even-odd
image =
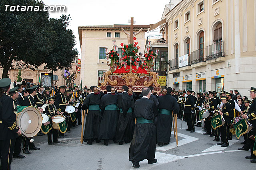
[[[206,47],[206,63],[213,64],[225,61],[225,42],[219,41]]]

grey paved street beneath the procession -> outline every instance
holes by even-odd
[[[245,159],[250,151],[239,151],[242,147],[243,137],[239,140],[229,141],[229,147],[222,148],[217,142],[212,141],[214,137],[202,135],[201,127],[196,127],[195,133],[185,131],[186,122],[180,129],[181,121],[178,120],[178,143],[172,135],[171,143],[164,147],[156,148],[156,164],[148,164],[147,160],[140,162],[140,170],[165,170],[165,169],[255,169],[255,164]],[[108,146],[93,143],[80,144],[81,125],[72,129],[72,133],[66,133],[68,137],[59,139],[60,144],[47,145],[47,135],[35,137],[36,147],[40,150],[32,150],[25,159],[13,159],[13,170],[129,170],[132,162],[128,160],[129,144],[122,146],[114,144]]]

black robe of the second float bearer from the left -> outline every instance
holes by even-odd
[[[116,127],[118,123],[118,111],[105,110],[105,107],[111,104],[117,105],[117,94],[105,94],[100,100],[100,109],[104,110],[100,121],[100,129],[98,139],[115,139]],[[117,107],[116,107],[117,108]]]

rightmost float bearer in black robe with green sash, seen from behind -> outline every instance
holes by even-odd
[[[162,96],[158,96],[159,101],[159,113],[157,121],[157,141],[158,145],[168,145],[171,138],[172,128],[172,111],[174,114],[179,113],[180,107],[176,98],[170,95],[172,88],[164,88]]]

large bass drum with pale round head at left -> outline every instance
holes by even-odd
[[[26,107],[18,114],[16,124],[26,137],[35,136],[42,126],[42,115],[35,107]]]

